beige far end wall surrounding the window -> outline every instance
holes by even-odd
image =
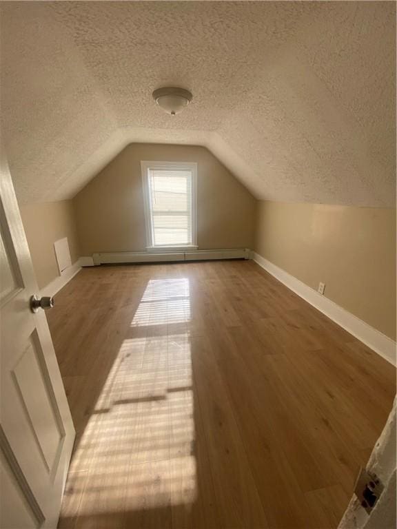
[[[81,255],[146,249],[141,160],[198,163],[199,249],[252,248],[256,200],[207,149],[135,143],[73,199]]]

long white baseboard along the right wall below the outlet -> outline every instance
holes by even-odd
[[[382,356],[394,366],[396,365],[396,342],[388,338],[380,331],[374,329],[369,324],[357,318],[354,314],[343,309],[338,304],[325,298],[316,290],[308,287],[307,284],[294,278],[285,270],[276,266],[272,262],[253,252],[252,258],[267,272],[271,273],[274,278],[285,284],[286,287],[300,295],[301,298],[316,307],[320,312],[324,313],[331,320],[346,329],[350,334],[354,335],[360,342],[373,349],[378,355]]]

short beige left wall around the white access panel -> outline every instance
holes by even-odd
[[[76,224],[71,200],[21,206],[23,227],[39,288],[59,276],[54,242],[68,237],[72,263],[79,258]]]

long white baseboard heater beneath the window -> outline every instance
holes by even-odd
[[[169,262],[169,261],[204,261],[214,259],[250,259],[251,251],[247,248],[190,250],[190,251],[118,251],[94,253],[92,264],[112,264],[123,262]],[[82,266],[87,266],[83,264]]]

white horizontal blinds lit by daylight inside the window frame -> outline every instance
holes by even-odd
[[[193,188],[193,170],[188,167],[147,167],[153,247],[194,244]]]

